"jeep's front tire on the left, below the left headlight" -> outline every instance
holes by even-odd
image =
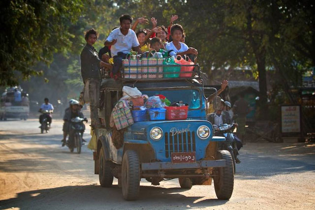
[[[136,200],[140,190],[140,163],[136,151],[127,150],[122,164],[122,190],[127,201]]]

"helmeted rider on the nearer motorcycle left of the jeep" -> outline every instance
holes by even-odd
[[[69,108],[65,109],[64,111],[64,116],[63,116],[63,144],[62,146],[65,145],[66,143],[66,137],[67,135],[69,134],[69,131],[70,131],[70,120],[72,118],[76,118],[76,117],[79,117],[79,118],[83,118],[87,121],[86,118],[84,118],[84,115],[83,113],[80,111],[79,109],[79,101],[77,100],[74,100],[74,99],[71,99],[69,101]],[[84,124],[83,124],[84,125]],[[85,126],[84,126],[85,128]],[[81,134],[83,135],[83,133]]]

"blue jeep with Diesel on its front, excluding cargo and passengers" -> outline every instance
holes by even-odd
[[[198,79],[199,78],[199,79]],[[126,128],[123,146],[114,147],[109,127],[114,104],[122,96],[122,87],[137,87],[149,96],[162,94],[170,101],[189,104],[187,120],[140,121]],[[95,174],[100,185],[110,187],[118,179],[126,200],[139,195],[140,180],[158,185],[164,179],[179,179],[182,188],[211,185],[214,180],[219,199],[229,199],[233,192],[234,171],[230,153],[218,150],[224,137],[213,136],[206,120],[207,99],[200,77],[164,79],[127,79],[120,82],[103,79],[100,117],[106,129],[96,129]]]

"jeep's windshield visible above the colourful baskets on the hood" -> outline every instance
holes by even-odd
[[[199,109],[200,91],[198,89],[173,89],[173,90],[141,90],[142,94],[149,97],[153,95],[164,95],[171,103],[183,101],[188,104],[189,109]]]

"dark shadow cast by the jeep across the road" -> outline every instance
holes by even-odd
[[[17,197],[0,201],[0,209],[203,209],[220,206],[227,201],[216,198],[199,201],[203,197],[187,197],[179,194],[182,188],[140,186],[137,201],[122,198],[117,185],[102,188],[99,185],[63,186],[40,189],[17,194]],[[158,207],[158,208],[156,208]]]

